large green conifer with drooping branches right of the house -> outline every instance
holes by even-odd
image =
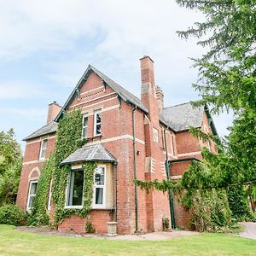
[[[255,0],[177,0],[177,3],[201,11],[206,17],[204,22],[195,22],[188,30],[177,32],[181,38],[198,38],[197,44],[207,48],[205,55],[193,59],[194,67],[199,70],[199,79],[193,86],[201,96],[200,101],[194,102],[195,107],[207,104],[212,113],[232,110],[236,119],[230,135],[222,140],[191,129],[195,136],[215,141],[218,154],[203,149],[203,160],[194,162],[183,173],[178,186],[165,181],[140,185],[162,191],[179,187],[177,192],[183,195],[183,206],[196,209],[201,206],[194,199],[199,194],[207,195],[203,192],[206,189],[232,190],[256,180],[256,3]],[[234,200],[239,193],[230,194]],[[230,204],[231,210],[232,205],[235,204]],[[240,214],[237,208],[236,213]],[[200,218],[207,220],[206,216]]]

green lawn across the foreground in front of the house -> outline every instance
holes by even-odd
[[[63,237],[0,225],[0,255],[255,255],[256,241],[224,234],[201,234],[166,241],[113,241]]]

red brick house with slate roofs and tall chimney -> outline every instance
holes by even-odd
[[[184,227],[189,212],[177,205],[170,207],[167,194],[153,191],[146,194],[134,179],[166,179],[166,162],[172,179],[181,177],[191,160],[201,159],[204,144],[189,134],[189,125],[217,135],[207,108],[192,108],[184,103],[164,108],[164,94],[154,84],[154,61],[141,60],[141,99],[113,82],[95,67],[89,66],[61,108],[49,104],[47,125],[26,137],[26,150],[20,177],[17,204],[26,210],[32,207],[38,177],[44,161],[55,150],[57,122],[65,111],[80,108],[83,124],[83,148],[69,155],[61,164],[72,166],[67,186],[66,207],[81,208],[84,161],[95,161],[97,168],[90,220],[96,231],[106,232],[108,221],[116,220],[119,233],[162,230],[163,218]],[[215,151],[214,145],[206,145]],[[167,173],[168,175],[168,173]],[[76,189],[74,189],[76,187]],[[49,212],[52,211],[51,184]],[[171,210],[170,210],[171,209]],[[66,218],[58,230],[84,232],[85,219]]]

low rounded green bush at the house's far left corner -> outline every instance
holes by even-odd
[[[22,225],[26,224],[25,212],[15,205],[0,207],[0,224]]]

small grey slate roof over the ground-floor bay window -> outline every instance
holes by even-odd
[[[61,162],[61,166],[84,161],[104,161],[113,163],[117,162],[113,155],[110,154],[101,143],[99,143],[96,145],[79,148],[78,150],[73,152],[73,154],[67,156],[67,158]]]

